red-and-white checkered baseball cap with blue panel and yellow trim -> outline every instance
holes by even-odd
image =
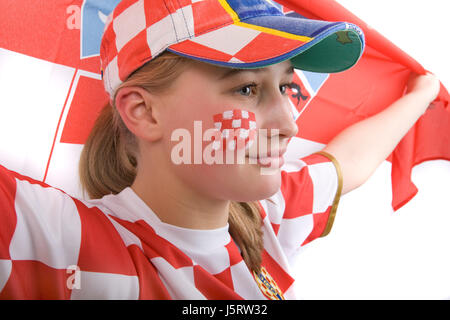
[[[122,0],[107,18],[100,46],[110,97],[165,50],[224,67],[290,59],[297,69],[333,73],[359,60],[364,35],[351,23],[285,15],[270,0]]]

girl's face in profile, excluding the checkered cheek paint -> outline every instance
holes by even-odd
[[[160,100],[163,149],[175,175],[215,199],[273,195],[281,184],[282,154],[297,133],[286,92],[292,77],[289,61],[252,70],[196,62],[183,72]],[[220,131],[214,130],[213,117],[231,110],[254,114],[254,143],[242,148],[247,139],[238,149],[215,150],[212,137],[220,137]]]

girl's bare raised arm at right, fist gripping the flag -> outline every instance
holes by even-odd
[[[338,134],[324,148],[341,165],[342,193],[363,184],[391,154],[439,93],[439,80],[432,74],[411,75],[406,94],[382,112]]]

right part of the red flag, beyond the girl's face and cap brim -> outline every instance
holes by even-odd
[[[400,98],[411,72],[426,73],[417,61],[334,0],[278,0],[278,3],[284,5],[287,15],[354,23],[364,31],[366,39],[361,60],[350,70],[322,78],[297,70],[302,75],[302,83],[313,87],[309,91],[311,101],[306,99],[307,105],[298,108],[301,110],[297,118],[299,133],[293,139],[308,152],[322,148],[345,127],[380,112]],[[441,84],[439,96],[388,157],[392,163],[394,210],[417,194],[411,181],[415,165],[427,160],[450,160],[449,101],[450,95]]]

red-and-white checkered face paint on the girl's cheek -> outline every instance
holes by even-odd
[[[213,116],[218,137],[213,149],[223,151],[248,149],[256,139],[256,117],[253,112],[234,109]]]

